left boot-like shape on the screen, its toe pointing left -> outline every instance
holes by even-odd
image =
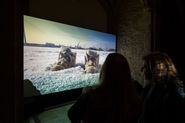
[[[74,67],[76,63],[76,53],[72,52],[69,47],[61,47],[58,61],[51,67],[52,71]]]

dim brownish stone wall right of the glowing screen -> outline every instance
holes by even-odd
[[[142,56],[151,49],[151,14],[141,0],[124,0],[117,17],[117,51],[127,58],[133,78],[142,84]]]

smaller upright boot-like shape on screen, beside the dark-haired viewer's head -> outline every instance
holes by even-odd
[[[97,73],[99,71],[99,54],[88,50],[85,54],[85,72]]]

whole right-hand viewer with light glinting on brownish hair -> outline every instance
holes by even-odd
[[[143,57],[144,112],[140,123],[185,123],[185,89],[171,58],[160,52]]]

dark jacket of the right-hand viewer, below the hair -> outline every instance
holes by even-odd
[[[153,83],[144,89],[144,112],[139,123],[185,123],[185,89],[173,81]]]

